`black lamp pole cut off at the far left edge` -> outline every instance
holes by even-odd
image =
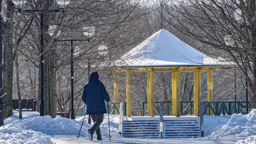
[[[4,126],[4,100],[2,78],[2,0],[0,0],[0,127]]]

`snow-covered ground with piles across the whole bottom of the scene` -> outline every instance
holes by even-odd
[[[108,118],[105,114],[101,125],[103,141],[88,139],[88,117],[79,133],[84,117],[75,120],[62,118],[40,117],[38,112],[22,112],[23,119],[18,119],[18,112],[4,121],[0,127],[0,143],[24,144],[68,144],[68,143],[169,143],[170,139],[125,139],[118,133],[119,115],[110,114],[111,142],[109,142]],[[150,119],[150,117],[133,117],[133,119]],[[125,118],[129,119],[129,118]],[[159,117],[152,118],[159,119]],[[204,116],[204,138],[172,139],[172,143],[227,143],[227,144],[256,144],[256,110],[247,115],[233,114],[232,116]]]

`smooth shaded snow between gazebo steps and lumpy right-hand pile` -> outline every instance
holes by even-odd
[[[231,115],[204,116],[204,136],[211,135],[229,122]]]

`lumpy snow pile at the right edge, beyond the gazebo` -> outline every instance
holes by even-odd
[[[207,138],[222,138],[225,136],[251,136],[256,135],[256,109],[249,114],[233,114],[229,122]]]

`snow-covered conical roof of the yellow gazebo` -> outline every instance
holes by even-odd
[[[122,56],[123,66],[218,65],[217,60],[162,29]]]

